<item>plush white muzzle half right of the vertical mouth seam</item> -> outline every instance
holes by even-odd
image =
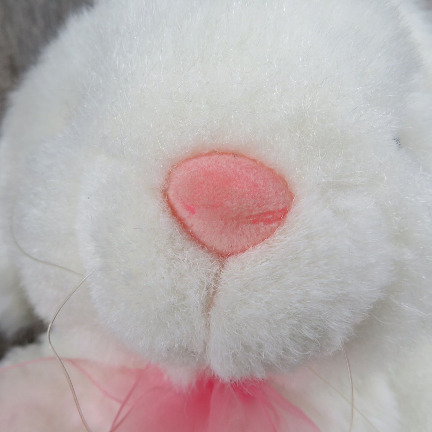
[[[287,370],[340,348],[392,281],[394,255],[372,199],[296,198],[286,224],[230,257],[210,311],[207,361],[222,377]]]

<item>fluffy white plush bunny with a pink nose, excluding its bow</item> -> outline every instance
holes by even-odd
[[[92,272],[54,323],[64,358],[152,362],[186,392],[203,369],[271,376],[348,432],[345,347],[353,432],[432,431],[427,13],[100,0],[70,19],[1,131],[2,330],[30,305],[49,322]],[[41,339],[3,365],[51,355]],[[9,369],[2,431],[83,430],[52,368],[63,396],[19,415],[32,378]]]

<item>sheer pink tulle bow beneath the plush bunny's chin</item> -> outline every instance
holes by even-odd
[[[229,383],[204,371],[180,390],[153,365],[64,363],[93,432],[319,432],[264,380]],[[0,369],[0,430],[85,430],[54,359]]]

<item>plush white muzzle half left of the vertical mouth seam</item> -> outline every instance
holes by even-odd
[[[196,363],[218,263],[178,231],[161,190],[122,161],[100,156],[89,173],[78,231],[101,322],[154,362]]]

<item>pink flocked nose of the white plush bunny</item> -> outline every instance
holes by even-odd
[[[283,224],[293,198],[271,168],[232,153],[180,162],[169,174],[166,197],[189,235],[222,257],[269,238]]]

